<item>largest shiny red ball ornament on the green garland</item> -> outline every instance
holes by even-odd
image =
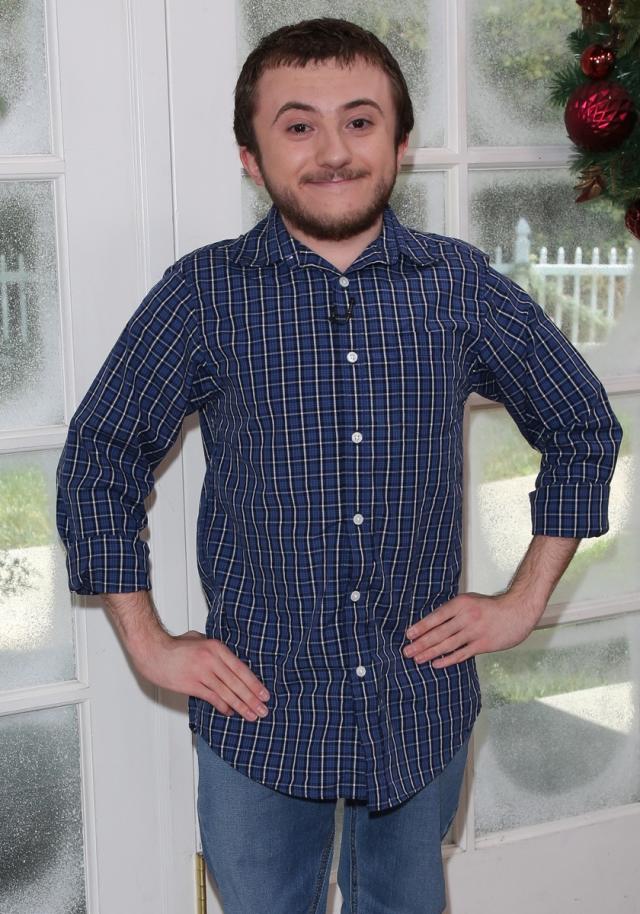
[[[578,86],[564,112],[569,138],[588,152],[608,152],[620,146],[637,118],[627,90],[606,80]]]

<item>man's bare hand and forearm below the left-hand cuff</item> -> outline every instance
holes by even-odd
[[[146,590],[103,596],[134,666],[145,679],[163,689],[202,698],[228,716],[237,711],[255,721],[268,713],[260,701],[269,699],[264,684],[226,644],[196,631],[170,635]]]

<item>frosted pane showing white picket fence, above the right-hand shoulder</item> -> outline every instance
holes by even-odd
[[[597,373],[632,374],[640,243],[611,204],[576,204],[573,185],[565,168],[472,171],[470,240],[528,289]]]

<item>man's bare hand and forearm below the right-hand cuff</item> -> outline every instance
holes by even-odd
[[[403,654],[441,668],[520,644],[535,628],[579,544],[579,537],[536,534],[505,593],[463,593],[443,603],[407,629],[412,643]]]

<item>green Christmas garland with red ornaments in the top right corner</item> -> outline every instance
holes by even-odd
[[[574,143],[577,203],[607,199],[640,238],[640,0],[576,0],[582,27],[567,40],[572,61],[553,80]]]

